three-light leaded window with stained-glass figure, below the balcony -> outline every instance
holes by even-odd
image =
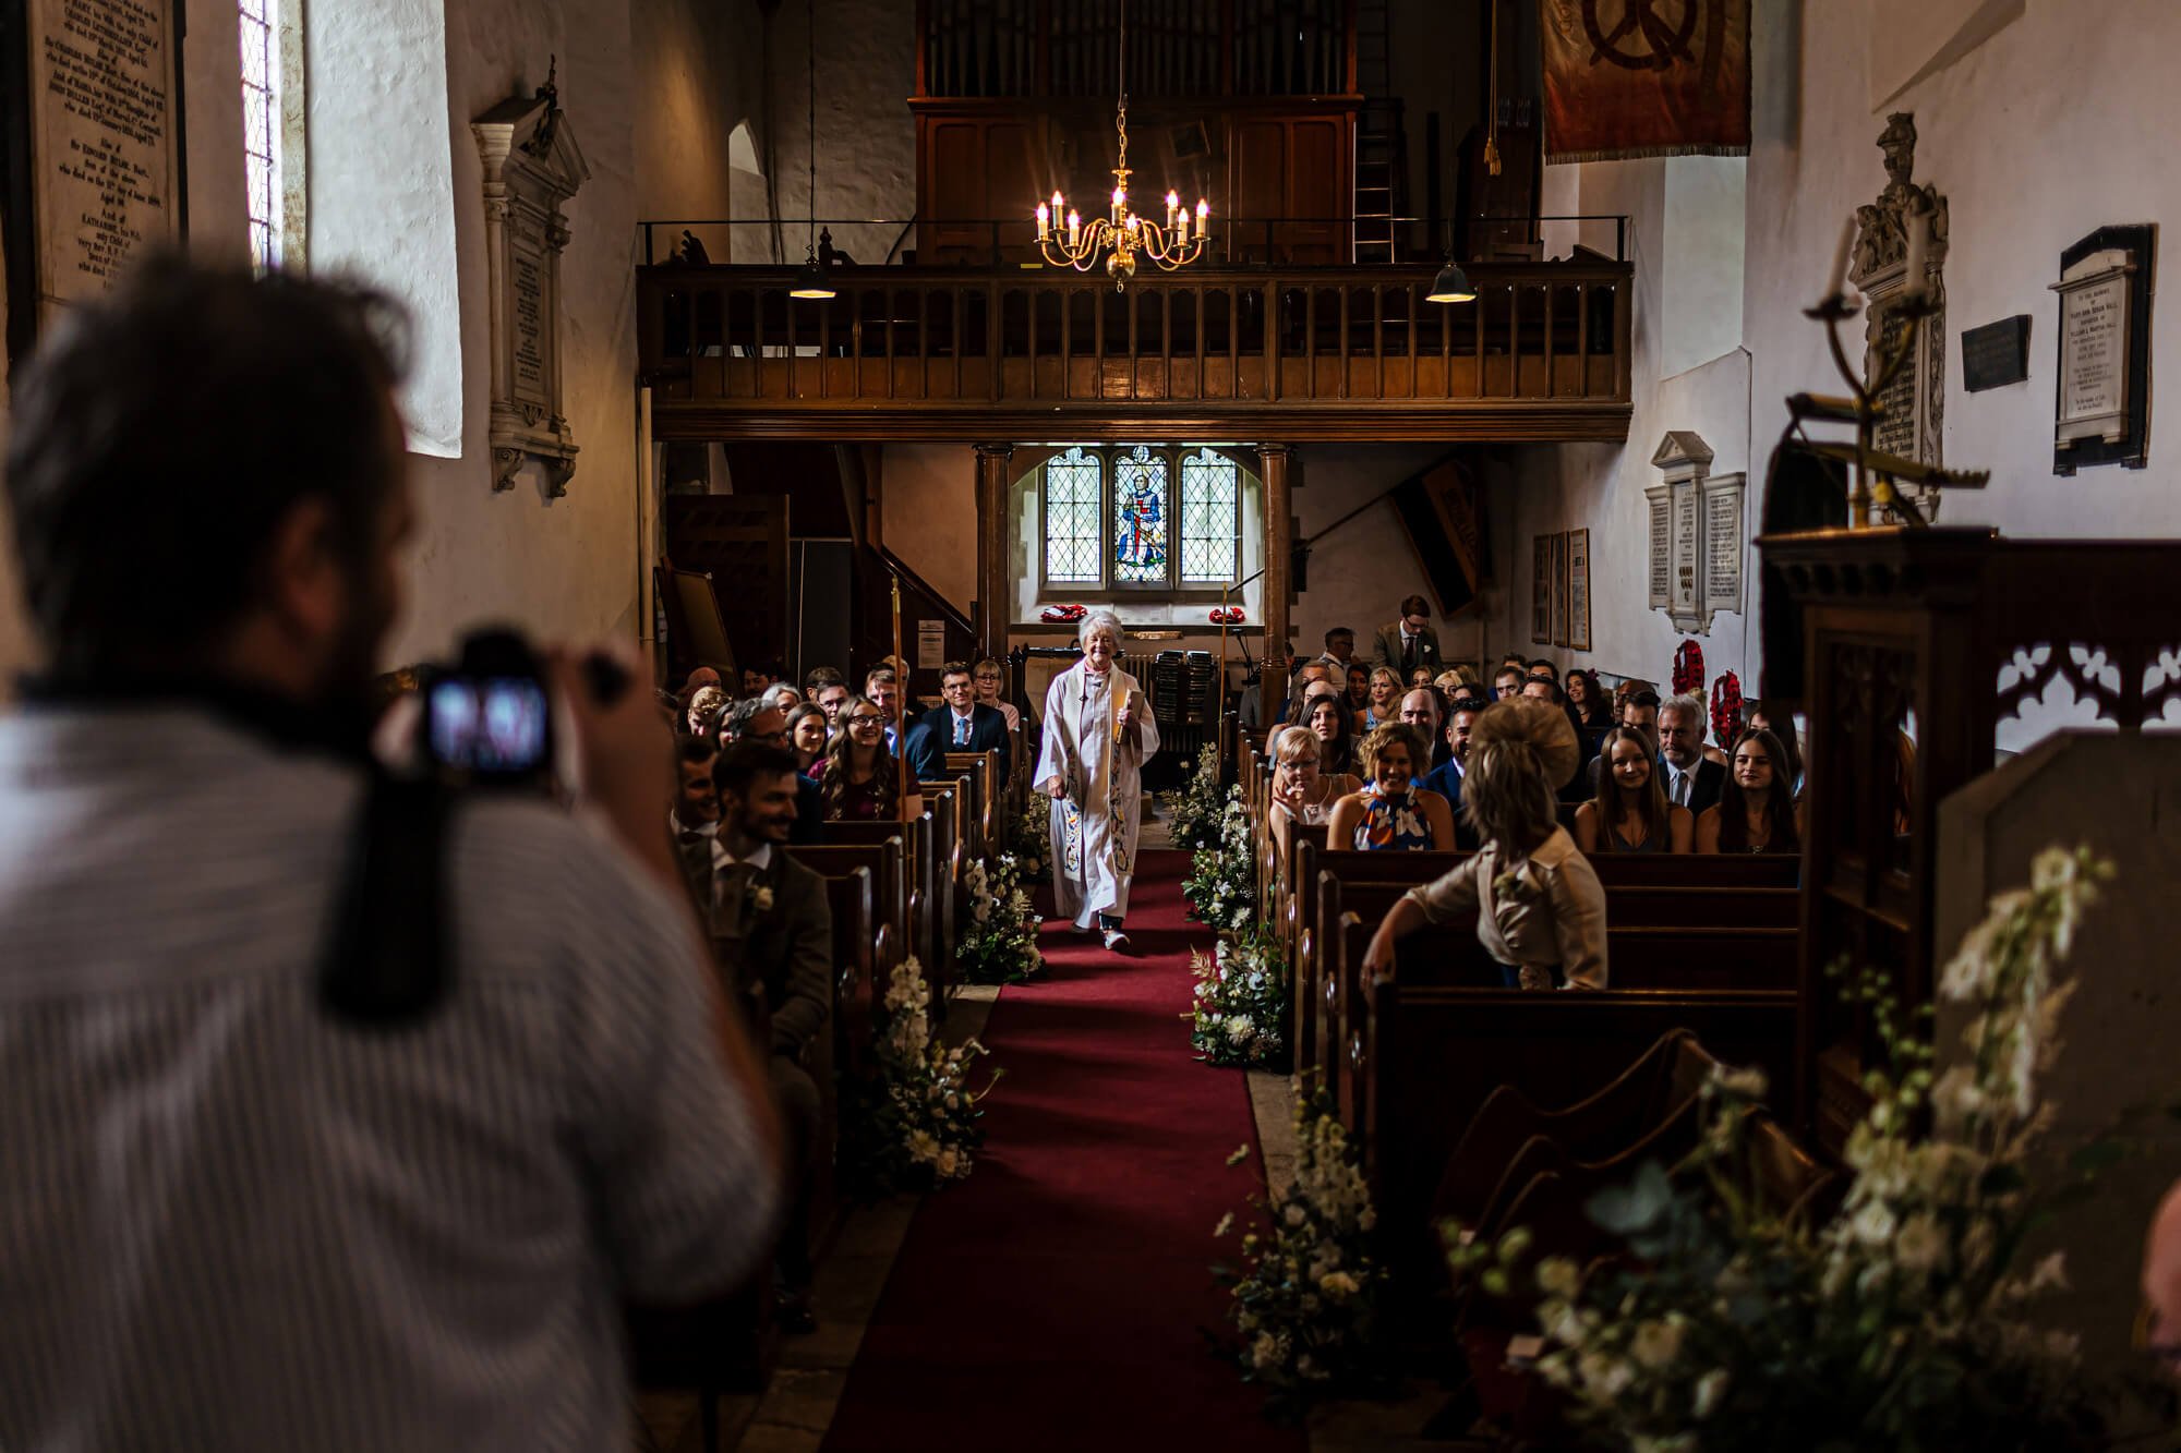
[[[1045,460],[1047,587],[1191,591],[1232,585],[1241,471],[1206,445],[1071,445]]]

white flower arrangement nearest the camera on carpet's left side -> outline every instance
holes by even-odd
[[[951,1047],[933,1041],[929,1008],[923,964],[907,958],[894,966],[872,1025],[879,1073],[864,1084],[857,1113],[842,1117],[844,1130],[857,1130],[842,1167],[861,1193],[931,1191],[962,1180],[984,1145],[979,1104],[1005,1071],[995,1069],[975,1089],[971,1069],[988,1049],[975,1038]]]

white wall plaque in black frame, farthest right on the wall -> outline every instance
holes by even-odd
[[[2150,393],[2148,227],[2100,227],[2065,253],[2059,292],[2059,377],[2052,471],[2120,463],[2142,469]]]

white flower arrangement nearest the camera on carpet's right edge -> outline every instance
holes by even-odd
[[[1243,1145],[1228,1165],[1248,1158]],[[1378,1348],[1378,1311],[1387,1274],[1372,1259],[1378,1224],[1363,1182],[1363,1163],[1322,1095],[1296,1084],[1296,1176],[1252,1202],[1263,1228],[1241,1237],[1241,1265],[1215,1265],[1230,1289],[1232,1337],[1217,1350],[1241,1379],[1265,1388],[1265,1416],[1298,1420],[1328,1396],[1381,1392],[1387,1359]],[[1234,1230],[1230,1213],[1213,1230]]]

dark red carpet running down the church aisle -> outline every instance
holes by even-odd
[[[1186,855],[1138,866],[1134,958],[1047,923],[1047,973],[1001,993],[984,1156],[916,1213],[827,1449],[1302,1449],[1200,1331],[1256,1126],[1241,1071],[1189,1054]]]

